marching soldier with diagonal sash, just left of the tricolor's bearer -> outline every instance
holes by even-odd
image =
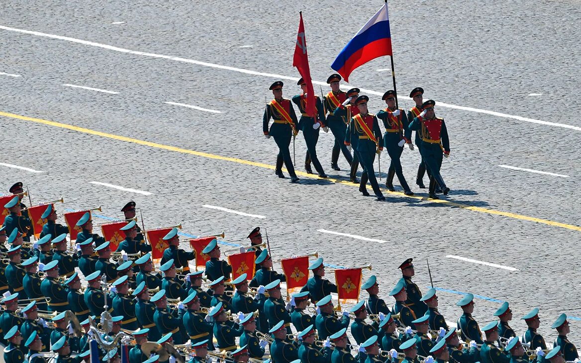
[[[383,138],[381,136],[381,130],[379,130],[377,117],[367,110],[368,101],[369,97],[367,96],[359,96],[355,101],[359,113],[351,118],[351,122],[347,126],[345,145],[349,145],[350,140],[358,139],[356,149],[361,160],[361,165],[363,166],[359,191],[365,196],[369,195],[367,189],[365,189],[367,179],[369,179],[377,200],[385,200],[383,193],[379,189],[373,167],[375,154],[381,154],[383,150]]]

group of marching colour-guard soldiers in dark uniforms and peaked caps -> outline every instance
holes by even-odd
[[[289,146],[291,138],[295,138],[300,130],[303,132],[304,141],[307,144],[307,154],[304,160],[305,170],[307,173],[313,174],[312,163],[318,176],[327,178],[327,174],[318,160],[316,147],[320,129],[328,132],[328,129],[331,128],[335,137],[335,145],[331,154],[331,167],[333,170],[340,171],[337,163],[339,154],[342,153],[350,166],[351,181],[359,183],[359,191],[364,196],[369,195],[365,188],[369,181],[377,200],[385,200],[375,178],[373,165],[375,155],[381,155],[383,148],[388,150],[391,160],[386,187],[389,191],[395,191],[393,177],[397,175],[404,193],[414,195],[401,170],[400,157],[405,145],[414,150],[411,132],[415,131],[415,145],[422,157],[415,183],[419,188],[425,188],[423,179],[427,171],[429,197],[438,199],[436,193],[447,195],[450,189],[440,174],[440,167],[442,167],[443,156],[450,156],[450,142],[444,119],[435,115],[436,102],[433,100],[424,102],[424,89],[414,88],[410,93],[410,98],[414,100],[415,106],[406,114],[403,109],[396,107],[396,93],[387,91],[383,94],[382,100],[385,100],[388,107],[380,110],[377,114],[372,114],[367,109],[369,98],[359,95],[358,88],[349,89],[347,92],[340,91],[339,82],[341,79],[339,74],[329,76],[327,83],[331,85],[331,91],[323,96],[322,101],[318,96],[315,96],[316,113],[315,117],[311,117],[305,113],[307,87],[303,78],[300,78],[297,85],[300,85],[303,93],[292,98],[292,102],[299,107],[301,113],[299,120],[297,120],[295,109],[290,100],[282,97],[282,81],[274,82],[270,86],[274,99],[267,104],[264,111],[263,132],[266,138],[274,138],[279,148],[275,169],[278,177],[285,178],[282,173],[282,165],[284,164],[290,174],[291,182],[299,182]],[[271,119],[273,123],[269,129],[268,123]],[[383,121],[385,127],[383,136],[379,129],[378,119]],[[353,150],[353,154],[351,150]],[[359,164],[363,167],[360,181],[357,180]]]

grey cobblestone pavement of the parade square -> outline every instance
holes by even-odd
[[[232,243],[247,243],[248,231],[261,225],[268,231],[275,258],[318,250],[326,263],[337,266],[371,262],[373,271],[365,271],[364,278],[378,275],[383,296],[399,279],[397,265],[407,257],[415,258],[415,281],[425,291],[429,258],[435,286],[444,289],[439,292],[440,311],[449,321],[460,316],[454,306],[460,293],[472,292],[480,296],[475,309],[480,324],[493,319],[499,301],[510,301],[515,312],[512,325],[522,332],[518,317],[540,307],[540,331],[551,342],[555,333],[550,324],[560,312],[581,317],[575,300],[581,292],[580,279],[574,272],[581,256],[575,243],[581,213],[575,202],[581,131],[555,125],[581,126],[578,117],[565,112],[574,110],[573,95],[581,81],[576,71],[579,47],[573,35],[581,26],[578,4],[452,5],[437,0],[406,8],[405,3],[390,3],[400,95],[422,86],[426,99],[553,123],[436,105],[451,135],[452,157],[444,160],[443,175],[452,189],[447,200],[453,203],[422,201],[401,193],[386,194],[386,203],[360,196],[356,186],[344,182],[346,171],[329,167],[330,133],[321,132],[318,153],[333,180],[343,182],[302,175],[299,185],[291,185],[288,179],[278,179],[272,170],[276,146],[263,138],[261,117],[264,97],[271,96],[268,85],[276,80],[268,74],[298,77],[292,68],[297,12],[303,10],[311,73],[314,80],[324,81],[336,54],[379,6],[381,2],[365,3],[354,11],[329,1],[284,6],[260,1],[171,6],[144,1],[53,1],[51,5],[10,1],[0,15],[1,26],[183,59],[0,29],[0,71],[21,76],[0,75],[0,112],[207,154],[140,145],[5,114],[0,118],[2,161],[42,172],[0,166],[0,189],[21,180],[30,188],[34,203],[63,195],[66,203],[58,206],[60,213],[65,208],[103,204],[102,214],[108,217],[119,217],[120,208],[133,199],[143,209],[146,228],[181,221],[184,232],[193,235],[224,229],[225,240]],[[112,24],[119,21],[124,23]],[[391,87],[390,74],[376,69],[386,67],[389,60],[382,58],[357,69],[353,87],[382,94]],[[286,98],[299,92],[295,83],[285,80]],[[400,106],[408,108],[411,102],[402,97]],[[380,107],[381,98],[371,95],[370,109]],[[299,135],[296,160],[301,171],[305,150]],[[384,154],[382,171],[388,168],[388,159]],[[406,149],[402,161],[414,192],[425,196],[414,188],[419,154]],[[569,177],[508,170],[498,167],[501,164]],[[345,160],[340,160],[340,166],[347,167]],[[124,192],[90,181],[153,194]],[[267,218],[207,209],[202,207],[205,204]],[[519,219],[523,215],[565,226]],[[517,270],[446,257],[450,255]],[[393,303],[389,297],[386,301]],[[575,323],[581,318],[572,319],[571,340],[579,346]]]

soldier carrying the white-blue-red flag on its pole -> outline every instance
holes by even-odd
[[[396,109],[395,91],[390,90],[385,92],[381,99],[385,100],[388,107],[385,110],[379,111],[377,113],[377,118],[382,120],[383,125],[385,126],[383,143],[385,148],[388,150],[389,158],[391,159],[385,185],[390,192],[394,192],[393,176],[397,174],[397,179],[399,179],[404,194],[414,195],[410,190],[410,186],[407,184],[406,177],[403,175],[400,161],[404,145],[407,144],[410,150],[414,150],[414,144],[411,143],[411,130],[408,128],[406,114],[402,109]]]

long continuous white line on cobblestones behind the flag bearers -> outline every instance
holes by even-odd
[[[60,40],[69,41],[69,42],[78,43],[78,44],[96,46],[98,48],[107,49],[109,51],[114,51],[114,52],[141,55],[141,56],[152,57],[152,58],[170,59],[170,60],[175,60],[176,62],[184,62],[184,63],[189,63],[189,64],[197,64],[198,66],[235,71],[235,72],[239,72],[239,73],[251,74],[252,76],[263,76],[263,77],[269,77],[269,78],[277,78],[279,80],[292,80],[292,81],[299,80],[299,78],[297,78],[297,77],[282,76],[282,74],[264,73],[264,72],[249,70],[249,69],[223,66],[222,64],[202,62],[200,60],[188,59],[188,58],[182,58],[182,57],[174,57],[174,56],[168,56],[168,55],[163,55],[163,54],[131,51],[131,49],[120,48],[119,46],[91,42],[91,41],[86,41],[83,39],[77,39],[77,38],[71,38],[71,37],[64,37],[63,35],[41,33],[40,31],[11,28],[11,27],[6,27],[6,26],[0,26],[0,29],[8,30],[8,31],[15,31],[16,33],[36,35],[37,37],[60,39]],[[326,86],[327,82],[313,81],[313,84]],[[350,89],[351,87],[348,85],[343,85],[342,88],[343,89]],[[371,89],[364,89],[364,88],[360,88],[360,92],[361,92],[361,94],[368,94],[368,95],[376,95],[376,96],[383,95],[383,92],[372,91]],[[401,99],[410,99],[410,98],[401,97]],[[543,120],[535,120],[534,118],[516,116],[516,115],[512,115],[512,114],[501,113],[501,112],[490,111],[490,110],[476,109],[474,107],[452,105],[451,103],[445,103],[445,102],[441,102],[441,101],[437,101],[437,105],[438,105],[438,107],[447,107],[450,109],[457,109],[457,110],[464,110],[464,111],[469,111],[469,112],[489,114],[491,116],[497,116],[497,117],[503,117],[503,118],[512,118],[513,120],[525,121],[525,122],[533,123],[533,124],[562,127],[562,128],[568,128],[569,130],[581,131],[581,127],[579,127],[579,126],[560,124],[560,123],[552,123],[552,122],[543,121]]]

